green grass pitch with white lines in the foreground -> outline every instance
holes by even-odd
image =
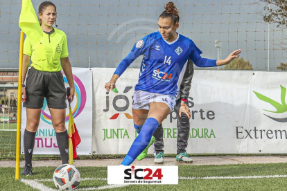
[[[23,170],[23,168],[21,168]],[[34,167],[32,176],[20,175],[23,180],[37,180],[42,185],[55,189],[53,171],[55,167]],[[107,167],[78,167],[81,178],[80,190],[96,190],[107,185]],[[287,163],[254,165],[179,165],[179,177],[243,176],[242,179],[180,179],[178,185],[128,185],[103,190],[285,190]],[[270,178],[248,179],[246,176],[268,176]],[[87,179],[90,178],[90,179]],[[15,181],[14,167],[0,168],[1,190],[35,190],[21,181]]]

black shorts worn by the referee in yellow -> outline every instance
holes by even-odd
[[[46,72],[37,71],[33,67],[29,69],[26,78],[26,102],[23,107],[40,109],[43,107],[46,98],[49,108],[65,109],[66,88],[61,71]]]

